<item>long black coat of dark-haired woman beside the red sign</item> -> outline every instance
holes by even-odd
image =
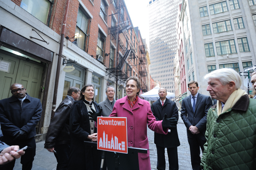
[[[93,101],[95,111],[99,112],[100,106]],[[96,170],[100,166],[100,155],[96,147],[84,144],[90,135],[90,120],[88,110],[82,100],[75,101],[70,113],[70,161],[69,170]],[[94,127],[94,133],[97,133]]]

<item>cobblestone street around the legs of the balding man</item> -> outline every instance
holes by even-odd
[[[186,127],[179,117],[177,124],[180,146],[178,147],[179,170],[192,170],[190,161],[189,143],[186,135]],[[150,150],[151,170],[157,170],[157,148],[154,144],[154,132],[148,129],[148,142]],[[166,170],[169,170],[168,156],[166,154]]]

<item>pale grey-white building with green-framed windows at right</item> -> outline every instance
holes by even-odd
[[[256,64],[255,0],[183,0],[178,22],[186,80],[198,81],[200,93],[209,95],[207,73],[221,68],[242,72]]]

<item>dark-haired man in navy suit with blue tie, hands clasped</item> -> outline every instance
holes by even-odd
[[[191,95],[182,99],[180,117],[187,128],[192,168],[201,170],[200,147],[204,152],[206,118],[212,100],[209,96],[198,93],[198,82],[190,81],[188,87]]]

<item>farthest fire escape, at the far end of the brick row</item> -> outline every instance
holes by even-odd
[[[148,72],[147,72],[147,65],[148,65],[148,61],[147,61],[147,51],[146,51],[146,48],[145,48],[145,45],[143,44],[142,46],[139,46],[140,47],[140,53],[141,53],[141,56],[140,56],[140,63],[141,63],[141,67],[140,67],[140,75],[143,79],[143,84],[142,84],[142,92],[147,92],[149,90],[148,88]]]

